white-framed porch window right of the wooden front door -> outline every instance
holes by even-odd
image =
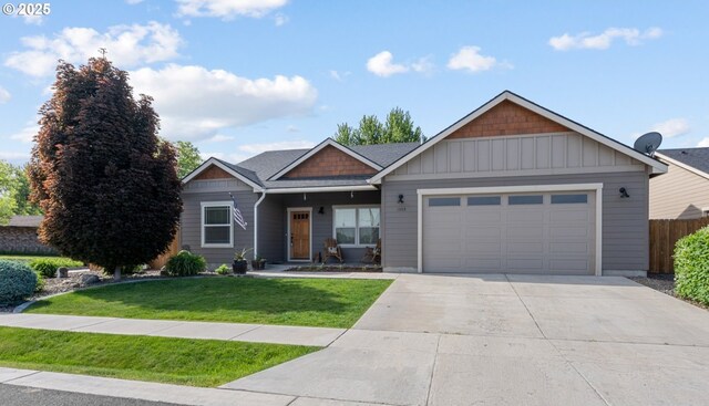
[[[342,246],[376,244],[379,222],[379,207],[336,207],[335,238]]]

